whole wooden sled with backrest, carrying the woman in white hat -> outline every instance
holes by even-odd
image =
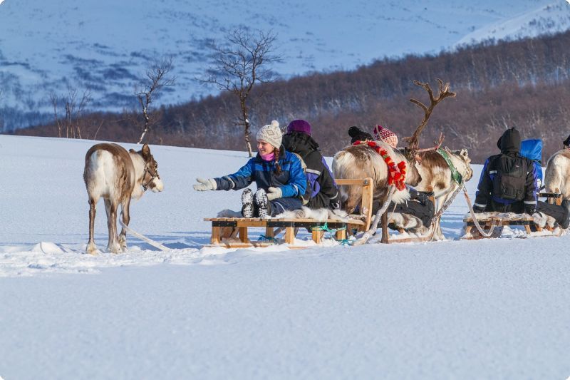
[[[282,242],[290,249],[301,249],[309,245],[295,245],[295,235],[299,228],[311,231],[312,240],[321,244],[323,228],[333,230],[336,240],[344,241],[347,235],[353,235],[358,231],[366,231],[370,228],[372,217],[372,178],[336,180],[338,185],[358,185],[362,187],[363,196],[361,215],[349,215],[348,220],[315,220],[315,219],[264,219],[259,217],[212,217],[204,218],[204,221],[212,223],[212,237],[208,247],[225,248],[249,248],[267,247],[276,242],[276,232],[284,230]],[[265,229],[263,240],[249,240],[248,229],[261,227]]]

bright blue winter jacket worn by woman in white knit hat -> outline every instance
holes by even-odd
[[[247,161],[236,173],[214,178],[216,190],[239,190],[255,182],[258,189],[267,191],[270,187],[280,188],[282,197],[301,197],[306,190],[306,178],[301,161],[283,146],[279,153],[281,173],[275,173],[275,162],[264,161],[259,153]]]

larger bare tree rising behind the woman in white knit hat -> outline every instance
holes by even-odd
[[[274,79],[271,63],[281,61],[273,53],[276,35],[239,27],[229,32],[224,43],[211,43],[212,65],[207,69],[207,78],[202,83],[217,86],[221,91],[229,91],[239,99],[241,115],[236,125],[243,125],[244,140],[249,157],[252,157],[250,143],[249,112],[252,108],[250,95],[256,83],[267,83]]]

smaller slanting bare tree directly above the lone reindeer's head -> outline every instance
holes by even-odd
[[[140,110],[144,119],[138,144],[142,143],[145,135],[155,123],[150,111],[150,103],[160,95],[162,88],[171,87],[175,84],[175,77],[169,76],[170,71],[172,71],[172,57],[155,61],[147,68],[146,78],[135,87],[135,95],[140,103]]]

